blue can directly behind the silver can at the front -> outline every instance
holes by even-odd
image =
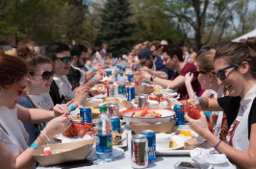
[[[145,130],[141,131],[141,134],[145,135],[148,141],[148,161],[156,160],[156,134],[154,131]]]

